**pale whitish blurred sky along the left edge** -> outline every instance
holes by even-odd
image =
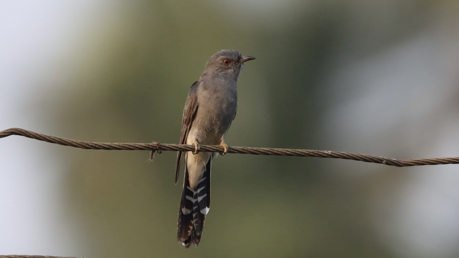
[[[94,32],[91,20],[103,23],[114,9],[106,1],[0,1],[1,128],[52,131],[40,123],[37,97],[58,90],[49,82],[78,57],[82,42],[69,31],[84,38]],[[89,255],[78,227],[62,216],[59,158],[46,143],[1,139],[1,254]]]

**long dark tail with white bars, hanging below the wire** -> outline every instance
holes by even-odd
[[[183,183],[182,200],[179,207],[177,223],[177,241],[186,248],[199,245],[201,241],[204,220],[210,208],[210,169],[212,157],[206,164],[206,171],[196,189],[190,188],[188,168],[185,165],[185,180]]]

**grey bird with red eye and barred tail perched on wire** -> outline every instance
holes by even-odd
[[[221,50],[206,63],[198,81],[193,83],[183,110],[180,144],[193,144],[195,151],[185,152],[185,180],[179,207],[177,241],[186,248],[201,240],[204,219],[210,207],[210,167],[216,153],[199,152],[199,144],[221,145],[228,151],[225,136],[236,116],[236,84],[244,62],[235,50]],[[175,183],[179,178],[182,152],[177,155]]]

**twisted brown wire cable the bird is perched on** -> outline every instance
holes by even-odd
[[[151,150],[153,152],[173,150],[173,151],[195,151],[195,145],[187,144],[170,144],[170,143],[93,143],[61,138],[46,135],[38,132],[32,132],[21,128],[10,128],[0,131],[0,138],[10,135],[20,135],[28,138],[56,143],[66,146],[72,146],[81,149],[113,149],[113,150]],[[199,151],[204,152],[224,152],[222,146],[217,145],[199,145]],[[299,157],[318,157],[334,158],[353,161],[364,161],[379,163],[388,166],[424,166],[424,165],[442,165],[442,164],[459,164],[459,157],[451,158],[428,158],[428,159],[409,159],[397,160],[379,156],[371,156],[357,153],[331,151],[331,150],[313,150],[313,149],[276,149],[276,148],[254,148],[254,147],[233,147],[228,148],[228,153],[252,154],[252,155],[280,155],[280,156],[299,156]],[[0,258],[2,258],[0,256]]]

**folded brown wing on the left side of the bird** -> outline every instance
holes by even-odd
[[[190,132],[191,124],[196,115],[196,110],[198,110],[197,103],[197,87],[199,86],[199,81],[193,83],[186,98],[185,109],[183,109],[183,118],[182,118],[182,133],[180,134],[179,144],[185,144],[186,137],[188,132]],[[175,183],[179,180],[179,171],[180,171],[180,160],[182,159],[182,152],[177,153],[177,163],[175,165]]]

